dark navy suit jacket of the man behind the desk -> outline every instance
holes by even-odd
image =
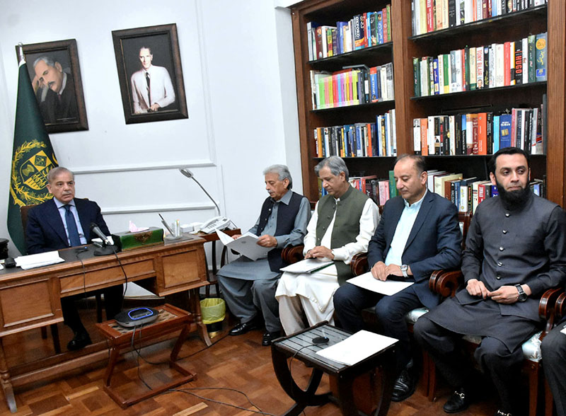
[[[110,235],[96,202],[79,198],[75,198],[74,202],[88,243],[91,243],[92,238],[96,238],[96,235],[91,234],[91,222],[96,223],[105,235]],[[25,244],[28,246],[28,254],[69,247],[67,233],[65,233],[65,227],[54,200],[45,201],[28,212]]]

